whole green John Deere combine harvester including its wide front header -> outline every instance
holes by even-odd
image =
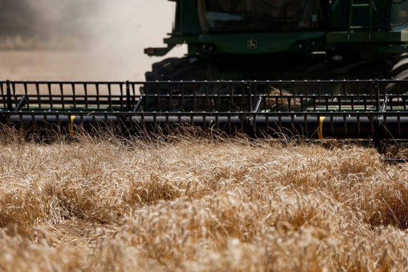
[[[153,64],[146,82],[0,81],[2,122],[408,139],[408,1],[174,2],[167,47],[145,53],[187,44],[185,57]]]

